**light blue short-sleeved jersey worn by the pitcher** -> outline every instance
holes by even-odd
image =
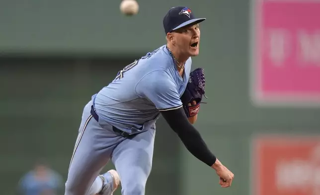
[[[163,45],[126,66],[92,97],[99,120],[128,133],[155,128],[160,111],[182,106],[191,63],[189,58],[182,78]]]

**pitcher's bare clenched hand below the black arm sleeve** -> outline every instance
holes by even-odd
[[[220,186],[222,188],[230,187],[235,175],[231,171],[229,171],[227,167],[223,166],[218,159],[211,167],[216,170],[216,173],[220,178]]]

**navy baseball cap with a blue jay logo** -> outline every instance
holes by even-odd
[[[163,28],[165,34],[187,26],[204,21],[206,18],[195,18],[191,9],[185,6],[172,7],[163,17]]]

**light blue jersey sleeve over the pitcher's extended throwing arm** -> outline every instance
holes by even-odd
[[[136,93],[152,101],[160,111],[182,107],[176,84],[165,71],[154,71],[146,75],[137,84]]]

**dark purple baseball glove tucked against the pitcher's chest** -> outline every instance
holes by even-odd
[[[202,68],[197,68],[190,73],[187,87],[180,98],[187,117],[192,117],[199,112],[200,103],[203,103],[201,102],[202,96],[207,98],[204,95],[204,86],[204,70]],[[193,101],[196,102],[195,105],[192,103]],[[191,105],[189,105],[189,103]]]

